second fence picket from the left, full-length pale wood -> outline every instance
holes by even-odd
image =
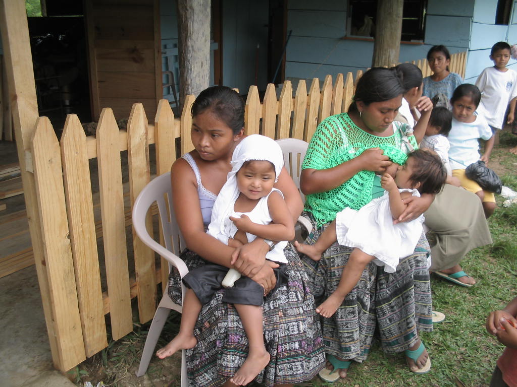
[[[63,178],[75,282],[86,356],[108,346],[102,313],[99,256],[86,136],[77,115],[67,116],[61,137]]]

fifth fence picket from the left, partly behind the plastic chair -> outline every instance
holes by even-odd
[[[176,160],[176,141],[174,135],[174,112],[167,100],[160,100],[155,116],[156,139],[156,174],[161,175],[171,170]],[[161,230],[161,223],[158,226]],[[163,245],[163,233],[160,232],[160,244]],[[167,290],[169,280],[169,262],[163,257],[160,259],[162,291]]]

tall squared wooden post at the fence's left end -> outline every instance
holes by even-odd
[[[9,88],[9,102],[12,116],[18,159],[22,174],[27,219],[38,273],[38,282],[47,322],[50,349],[54,366],[62,368],[59,361],[57,336],[54,332],[54,316],[51,308],[51,292],[47,269],[43,257],[41,219],[38,213],[36,187],[34,182],[31,144],[38,118],[36,84],[32,65],[31,44],[29,43],[25,2],[0,0],[0,31],[4,49],[5,70]],[[7,87],[4,85],[4,87]],[[80,360],[79,360],[80,361]]]

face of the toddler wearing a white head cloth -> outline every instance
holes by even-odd
[[[248,160],[237,172],[237,188],[250,200],[269,195],[275,184],[275,165],[268,160]]]

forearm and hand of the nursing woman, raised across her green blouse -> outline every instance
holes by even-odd
[[[303,169],[300,175],[301,191],[306,195],[329,191],[339,187],[359,171],[385,172],[391,164],[381,149],[367,149],[352,160],[332,168]]]

